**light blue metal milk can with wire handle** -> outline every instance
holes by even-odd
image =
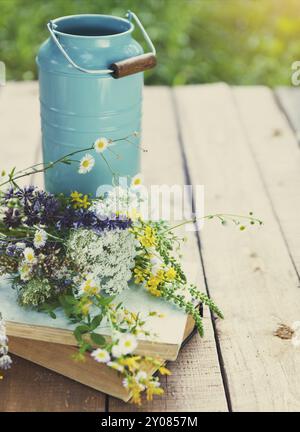
[[[109,145],[103,156],[118,175],[140,171],[140,135],[134,132],[141,130],[143,71],[155,66],[156,57],[137,16],[128,12],[126,17],[73,15],[48,23],[51,37],[37,57],[44,163],[88,149],[100,137],[129,137]],[[151,53],[143,54],[133,39],[132,20]],[[55,165],[45,172],[46,190],[95,194],[98,186],[111,184],[112,173],[101,155],[86,153],[96,161],[91,172],[80,175],[74,164]]]

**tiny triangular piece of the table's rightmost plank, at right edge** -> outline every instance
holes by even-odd
[[[300,143],[300,88],[278,87],[275,95]]]

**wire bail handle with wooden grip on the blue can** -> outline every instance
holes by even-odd
[[[137,26],[140,28],[150,50],[151,53],[148,54],[141,54],[136,57],[131,57],[126,60],[122,60],[116,63],[113,63],[110,65],[109,69],[85,69],[81,66],[79,66],[77,63],[74,62],[74,60],[71,59],[69,54],[66,52],[64,47],[59,42],[56,34],[55,34],[55,27],[56,24],[53,21],[49,21],[47,24],[47,28],[49,30],[49,33],[53,39],[53,42],[57,46],[57,48],[60,50],[60,52],[63,54],[63,56],[67,59],[67,61],[77,70],[88,73],[88,74],[94,74],[94,75],[107,75],[111,74],[114,78],[122,78],[124,76],[132,75],[138,72],[143,72],[144,70],[151,69],[154,66],[156,66],[156,49],[146,32],[143,24],[139,20],[139,18],[136,16],[135,13],[128,11],[126,14],[126,18],[131,21],[132,19],[135,21]]]

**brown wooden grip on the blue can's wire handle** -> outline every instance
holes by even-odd
[[[112,76],[114,78],[123,78],[128,75],[152,69],[156,64],[156,56],[150,53],[113,63],[110,65],[110,69],[113,70]]]

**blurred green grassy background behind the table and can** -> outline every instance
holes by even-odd
[[[147,84],[226,81],[290,84],[300,60],[300,0],[0,0],[0,60],[7,78],[36,78],[51,18],[136,12],[158,51]],[[139,37],[137,37],[139,39]]]

